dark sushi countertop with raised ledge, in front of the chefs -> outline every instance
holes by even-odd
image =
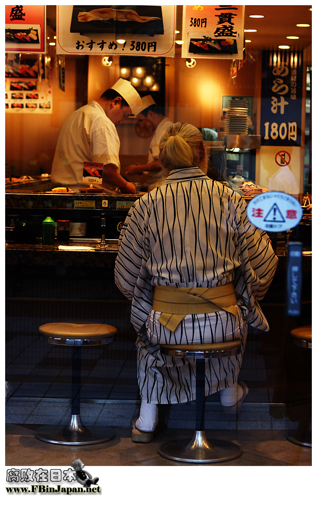
[[[120,227],[133,202],[139,198],[139,195],[6,192],[6,263],[42,266],[53,266],[56,263],[61,266],[76,264],[114,266]],[[100,248],[101,215],[105,218],[106,225],[104,249]],[[57,239],[53,245],[42,245],[41,223],[47,217],[55,222],[70,220],[71,223],[81,224],[85,227],[84,233],[77,235],[75,233],[74,237],[71,235],[67,249],[60,249]],[[14,239],[12,228],[21,222],[25,225],[32,223],[37,225],[38,234],[32,237],[30,235],[23,242],[19,242],[17,238]],[[302,227],[310,230],[311,238],[311,217],[310,220],[306,219]],[[17,230],[18,228],[16,228],[16,233]],[[275,252],[279,258],[278,270],[285,270],[286,238],[281,235],[279,239],[280,241],[275,246]],[[311,270],[311,239],[308,243],[303,241],[304,271]],[[84,247],[82,251],[80,246]]]

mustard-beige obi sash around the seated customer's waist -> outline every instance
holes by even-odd
[[[220,310],[237,314],[233,283],[217,287],[166,287],[155,285],[152,309],[161,311],[159,322],[175,331],[185,315]]]

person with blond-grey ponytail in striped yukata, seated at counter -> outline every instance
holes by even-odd
[[[160,162],[168,176],[130,208],[115,267],[138,332],[141,410],[133,441],[153,439],[158,404],[195,399],[195,360],[166,356],[159,344],[241,339],[239,355],[207,361],[205,379],[206,395],[220,391],[223,408],[241,406],[248,390],[237,379],[247,326],[268,330],[258,301],[278,262],[265,231],[248,220],[244,199],[206,176],[198,129],[170,126],[161,137]],[[191,313],[180,314],[177,304],[184,301],[193,305]]]

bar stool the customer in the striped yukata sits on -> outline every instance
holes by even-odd
[[[163,443],[157,452],[164,458],[190,463],[216,463],[229,461],[241,456],[241,448],[225,440],[208,440],[204,430],[205,413],[205,360],[212,357],[228,357],[241,352],[241,340],[231,342],[195,344],[195,345],[161,345],[165,355],[190,357],[196,360],[196,431],[193,438],[172,440]]]

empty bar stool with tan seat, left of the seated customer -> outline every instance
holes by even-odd
[[[42,426],[35,437],[49,443],[84,446],[106,442],[114,438],[111,428],[86,427],[80,419],[81,349],[109,344],[114,340],[117,328],[107,324],[81,324],[51,322],[39,327],[41,341],[72,347],[72,409],[71,420],[66,426]]]

